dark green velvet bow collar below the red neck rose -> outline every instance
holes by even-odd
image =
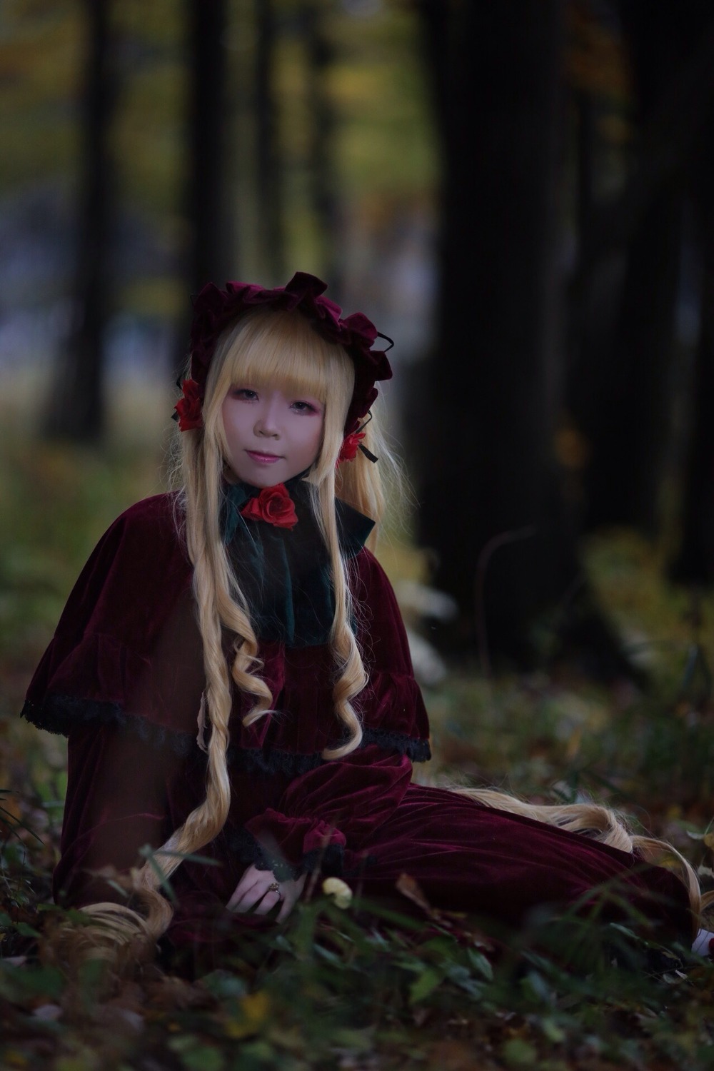
[[[240,511],[260,488],[226,483],[224,542],[258,638],[288,647],[313,647],[328,642],[335,614],[330,562],[303,473],[288,480],[286,488],[298,514],[292,529],[244,519]],[[335,512],[341,552],[353,558],[363,548],[374,521],[339,499]]]

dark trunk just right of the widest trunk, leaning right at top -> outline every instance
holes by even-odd
[[[584,524],[653,534],[672,420],[686,175],[714,93],[705,0],[621,0],[638,102],[631,176],[581,223],[568,404],[584,437]]]

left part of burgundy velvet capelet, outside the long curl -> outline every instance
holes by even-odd
[[[155,651],[189,598],[191,577],[171,496],[145,499],[118,517],[67,599],[22,716],[66,736],[90,722],[125,724],[140,707],[147,734],[185,731],[180,693]]]

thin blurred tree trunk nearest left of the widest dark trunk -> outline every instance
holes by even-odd
[[[336,236],[339,231],[337,176],[334,167],[335,112],[328,91],[332,46],[324,32],[324,5],[304,0],[302,25],[307,58],[307,111],[309,115],[309,192],[318,228],[322,271],[333,300],[343,289]]]

